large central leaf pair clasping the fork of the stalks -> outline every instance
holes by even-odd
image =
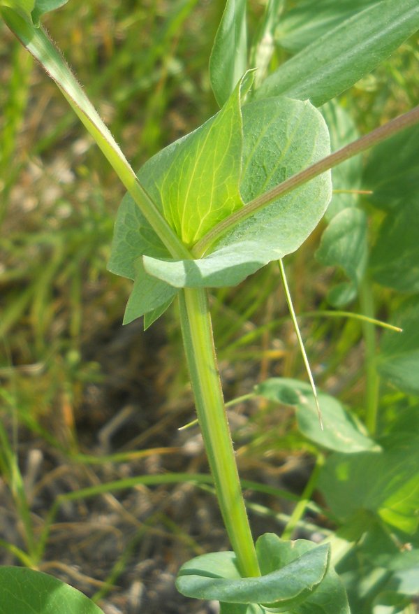
[[[192,250],[218,222],[329,152],[323,117],[308,101],[273,97],[242,108],[249,87],[242,83],[219,113],[149,159],[138,173]],[[236,285],[293,252],[316,227],[330,194],[330,173],[324,173],[231,224],[204,257],[183,260],[170,258],[126,195],[109,263],[110,271],[135,280],[124,322],[167,305],[176,288]]]

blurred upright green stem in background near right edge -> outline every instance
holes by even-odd
[[[374,296],[371,282],[365,278],[360,288],[360,306],[367,317],[374,317]],[[362,322],[365,341],[365,375],[366,375],[366,415],[365,424],[369,434],[374,436],[378,413],[378,373],[376,369],[376,336],[373,324]]]

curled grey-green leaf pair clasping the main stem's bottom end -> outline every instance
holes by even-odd
[[[329,564],[328,545],[284,541],[266,533],[256,542],[261,576],[242,578],[234,552],[213,552],[186,562],[177,589],[187,597],[216,599],[222,614],[348,614],[344,587]]]

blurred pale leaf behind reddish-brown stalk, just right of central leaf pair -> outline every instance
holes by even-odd
[[[335,0],[333,0],[335,3]],[[337,151],[360,136],[352,117],[335,100],[330,100],[321,107],[321,113],[328,124],[330,147]],[[358,204],[358,194],[339,193],[340,190],[358,190],[361,185],[362,157],[354,156],[332,169],[332,200],[325,213],[327,221],[347,207]]]

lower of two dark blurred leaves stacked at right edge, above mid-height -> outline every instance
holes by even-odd
[[[419,292],[418,236],[419,201],[406,199],[378,229],[369,263],[374,281],[399,292]]]

